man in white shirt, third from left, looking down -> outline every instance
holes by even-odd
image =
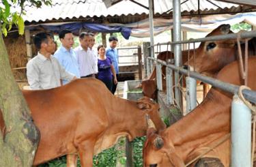
[[[91,37],[89,33],[82,32],[79,35],[80,46],[74,48],[76,52],[76,59],[79,63],[79,70],[81,78],[95,77],[95,57],[89,44],[91,43]]]

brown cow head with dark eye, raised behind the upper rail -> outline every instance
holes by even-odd
[[[232,33],[230,25],[220,25],[206,37],[227,33]],[[191,67],[190,70],[195,70],[195,72],[213,76],[227,63],[234,61],[235,44],[235,40],[201,42],[195,52],[195,60],[193,57],[190,57],[185,65],[189,65]]]

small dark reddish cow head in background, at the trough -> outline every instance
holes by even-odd
[[[150,80],[143,80],[141,82],[143,95],[156,99],[156,78]]]

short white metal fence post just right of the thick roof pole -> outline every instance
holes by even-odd
[[[197,106],[197,80],[186,77],[186,114]]]

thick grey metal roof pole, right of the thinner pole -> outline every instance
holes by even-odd
[[[180,0],[173,0],[173,42],[180,41],[182,39],[181,32],[181,12],[180,12]],[[175,66],[182,66],[182,45],[174,44],[174,60]],[[175,85],[179,83],[180,74],[175,72]],[[182,109],[182,97],[179,87],[175,87],[175,100],[177,106]]]

